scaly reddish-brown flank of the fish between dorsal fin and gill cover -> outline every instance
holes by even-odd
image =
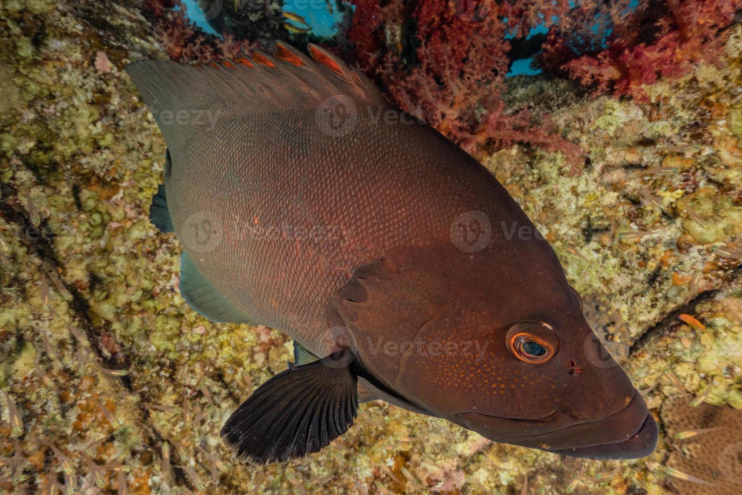
[[[491,194],[502,186],[479,163],[461,160],[435,131],[421,135],[417,122],[375,125],[365,110],[341,146],[321,132],[305,138],[315,111],[287,110],[192,126],[185,145],[170,148],[165,189],[176,232],[189,217],[214,212],[226,240],[189,251],[191,258],[249,318],[316,355],[329,352],[329,297],[355,266],[396,246],[447,240],[461,212],[515,210],[528,222],[505,191]],[[290,232],[300,229],[326,235],[315,242]]]

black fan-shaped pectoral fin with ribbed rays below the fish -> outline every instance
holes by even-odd
[[[289,368],[255,390],[221,431],[238,458],[252,464],[286,462],[329,445],[358,413],[352,355],[342,352]]]

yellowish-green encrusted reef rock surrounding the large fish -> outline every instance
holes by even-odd
[[[381,402],[287,465],[242,465],[221,424],[291,341],[212,324],[148,223],[165,143],[122,71],[165,58],[137,10],[0,1],[0,491],[659,494],[742,492],[742,28],[719,66],[649,101],[514,80],[589,151],[484,160],[557,250],[588,317],[660,422],[646,459],[498,445]]]

